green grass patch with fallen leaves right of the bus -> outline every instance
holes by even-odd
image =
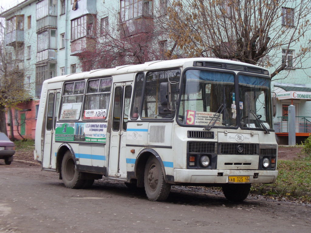
[[[277,170],[279,175],[274,184],[254,184],[252,191],[311,201],[310,156],[301,160],[279,160]]]

